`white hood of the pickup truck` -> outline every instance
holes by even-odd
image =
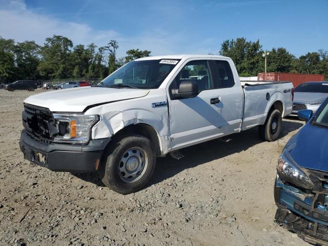
[[[24,103],[51,112],[83,112],[87,107],[146,96],[149,90],[130,88],[78,87],[30,96]]]

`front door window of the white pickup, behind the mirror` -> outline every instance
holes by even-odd
[[[175,77],[176,88],[183,80],[197,81],[199,91],[213,89],[206,60],[194,60],[187,63]]]

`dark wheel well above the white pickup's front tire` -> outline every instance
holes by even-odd
[[[158,139],[158,134],[156,130],[147,125],[147,124],[135,124],[135,125],[129,125],[121,130],[119,130],[114,136],[113,139],[121,138],[126,135],[131,135],[131,134],[140,134],[142,136],[147,137],[148,139],[151,140],[152,142],[152,147],[155,150],[156,156],[160,156],[160,145],[159,145],[159,139]]]

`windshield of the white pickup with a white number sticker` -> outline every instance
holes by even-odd
[[[130,61],[103,81],[99,87],[158,88],[179,62],[178,59]]]

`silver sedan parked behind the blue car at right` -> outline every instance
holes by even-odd
[[[328,96],[328,82],[307,82],[299,85],[294,91],[292,116],[303,109],[315,112]]]

